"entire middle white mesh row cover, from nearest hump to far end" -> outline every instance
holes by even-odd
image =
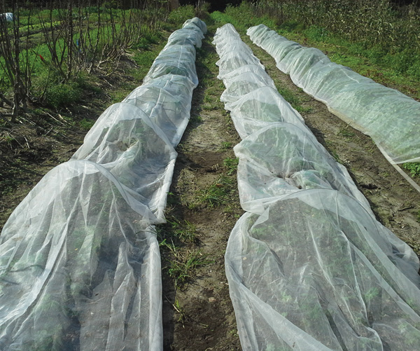
[[[225,95],[243,139],[234,150],[247,213],[225,254],[243,350],[413,350],[419,259],[375,219],[346,169],[272,84],[257,86],[269,79],[260,65],[228,67],[255,60],[245,58],[248,49],[240,60],[226,50],[243,47],[240,40],[225,25],[214,43],[225,92],[241,85],[244,94]]]

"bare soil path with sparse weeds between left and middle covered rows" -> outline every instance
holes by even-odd
[[[169,277],[170,253],[162,254],[162,315],[164,350],[241,350],[228,281],[225,248],[230,231],[243,213],[239,205],[236,174],[225,203],[211,207],[200,200],[202,191],[221,175],[225,158],[235,158],[232,147],[240,142],[228,113],[220,102],[223,83],[216,76],[216,50],[208,33],[197,50],[199,85],[193,93],[191,119],[177,147],[167,219],[187,220],[195,226],[197,241],[183,243],[181,254],[200,249],[213,261],[200,267],[181,288]],[[162,226],[159,230],[167,230]]]

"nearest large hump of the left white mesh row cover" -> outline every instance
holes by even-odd
[[[159,347],[159,246],[133,195],[77,160],[48,172],[15,209],[0,236],[2,350]]]

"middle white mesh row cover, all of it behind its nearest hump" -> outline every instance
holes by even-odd
[[[214,43],[221,57],[216,62],[219,78],[226,87],[221,101],[244,139],[235,147],[241,206],[248,212],[262,212],[265,202],[297,186],[327,186],[353,196],[371,212],[346,168],[316,141],[300,113],[281,97],[264,66],[233,31],[230,24],[221,27]],[[244,49],[226,50],[230,47]],[[267,182],[272,186],[265,186]]]

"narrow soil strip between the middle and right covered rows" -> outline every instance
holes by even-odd
[[[242,36],[255,56],[265,65],[276,87],[293,91],[306,113],[301,113],[305,123],[318,142],[344,165],[353,181],[369,200],[379,222],[407,242],[420,254],[420,194],[388,163],[372,139],[351,128],[328,111],[325,104],[313,99],[276,67],[274,59],[248,36]]]

